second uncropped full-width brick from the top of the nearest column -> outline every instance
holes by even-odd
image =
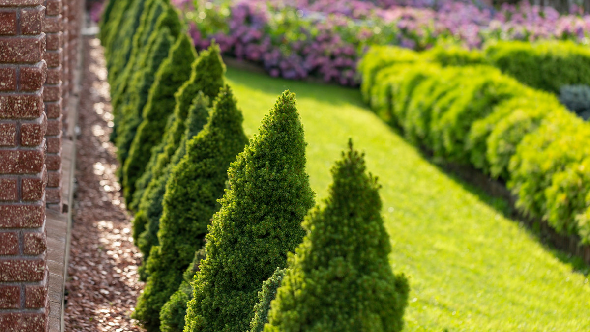
[[[35,94],[0,96],[0,119],[34,119],[44,109],[41,91]]]

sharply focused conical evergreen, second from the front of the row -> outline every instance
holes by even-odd
[[[304,235],[314,195],[306,145],[295,96],[286,91],[228,170],[231,189],[209,227],[185,332],[248,329],[260,285],[286,266]]]

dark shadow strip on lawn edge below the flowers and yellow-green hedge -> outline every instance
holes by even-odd
[[[244,65],[236,66],[235,64],[230,65],[230,67],[232,70],[228,71],[228,78],[240,84],[251,84],[252,73],[248,72],[249,68],[244,68]],[[260,68],[255,70],[255,72],[266,76],[266,73],[260,70]],[[362,102],[358,88],[346,88],[350,92],[346,94],[342,94],[342,88],[334,84],[320,84],[316,81],[290,81],[283,78],[274,78],[273,80],[257,80],[255,90],[278,95],[284,90],[291,89],[292,91],[297,91],[297,94],[302,97],[316,98],[334,106],[352,104],[366,109],[368,112],[372,112]],[[414,145],[405,139],[399,127],[389,124],[389,128],[396,135],[404,138],[409,145]],[[457,165],[449,163],[440,157],[434,157],[426,147],[419,147],[417,150],[431,165],[437,167],[437,169],[457,182],[463,189],[476,195],[481,202],[491,206],[491,208],[504,215],[507,219],[519,222],[527,230],[529,235],[543,244],[545,249],[551,252],[554,257],[565,264],[571,265],[576,272],[586,276],[590,274],[590,265],[586,264],[582,257],[575,254],[575,243],[572,245],[572,242],[575,242],[575,240],[570,236],[556,234],[546,222],[540,219],[530,219],[522,215],[515,208],[514,203],[516,202],[516,198],[506,188],[505,183],[491,179],[489,176],[480,172],[480,170],[474,169],[474,167]]]

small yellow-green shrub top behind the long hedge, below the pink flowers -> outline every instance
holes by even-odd
[[[439,63],[443,66],[463,66],[474,64],[486,64],[483,52],[478,50],[467,50],[466,48],[452,45],[443,47],[438,45],[424,52],[425,60]]]

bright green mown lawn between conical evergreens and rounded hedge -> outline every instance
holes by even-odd
[[[297,94],[316,201],[349,137],[366,152],[383,186],[392,267],[411,284],[405,331],[590,331],[588,277],[494,208],[504,202],[427,162],[362,104],[358,90],[232,68],[227,77],[249,136],[278,94]]]

